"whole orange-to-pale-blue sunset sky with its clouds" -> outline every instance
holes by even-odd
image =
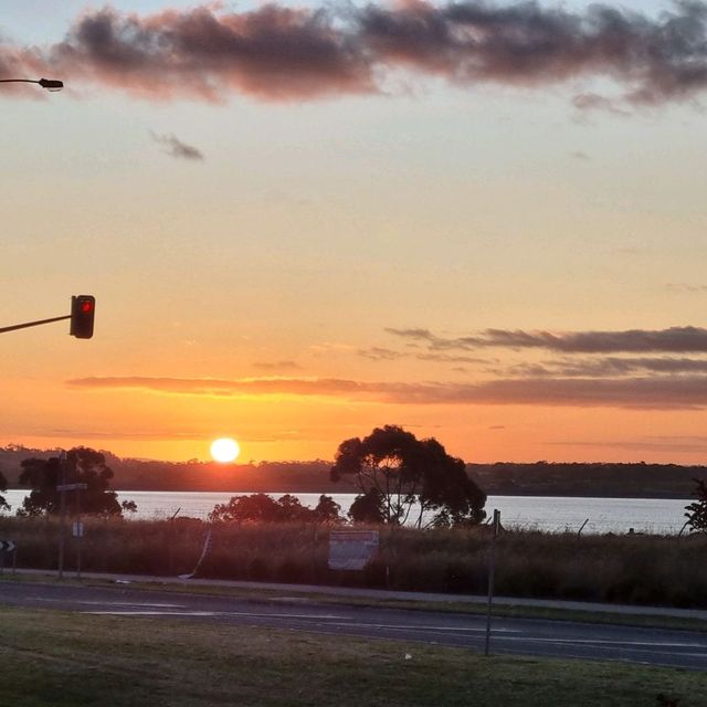
[[[707,3],[0,0],[0,444],[707,457]]]

